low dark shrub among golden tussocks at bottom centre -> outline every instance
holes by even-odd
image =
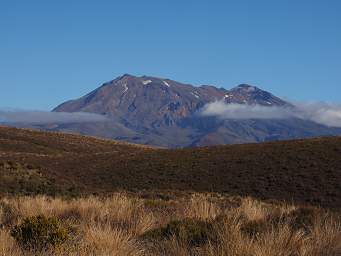
[[[209,222],[196,219],[174,220],[165,227],[146,232],[147,240],[164,240],[176,237],[191,246],[200,246],[214,238],[214,228]]]

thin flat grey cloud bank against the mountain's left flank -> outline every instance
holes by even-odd
[[[101,122],[107,120],[105,116],[76,112],[47,112],[47,111],[25,111],[25,110],[0,110],[1,123],[85,123]]]

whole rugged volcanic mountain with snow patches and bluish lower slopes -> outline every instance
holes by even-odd
[[[200,115],[206,104],[215,101],[293,107],[271,93],[247,84],[226,90],[125,74],[53,110],[101,114],[107,121],[41,128],[171,148],[341,134],[341,129],[297,118],[241,120]]]

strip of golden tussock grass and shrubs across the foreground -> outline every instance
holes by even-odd
[[[0,199],[0,255],[337,256],[336,212],[252,198]]]

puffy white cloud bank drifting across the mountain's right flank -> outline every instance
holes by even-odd
[[[341,105],[327,103],[296,103],[295,107],[271,107],[216,101],[206,104],[200,114],[222,119],[300,118],[326,126],[341,127]]]

